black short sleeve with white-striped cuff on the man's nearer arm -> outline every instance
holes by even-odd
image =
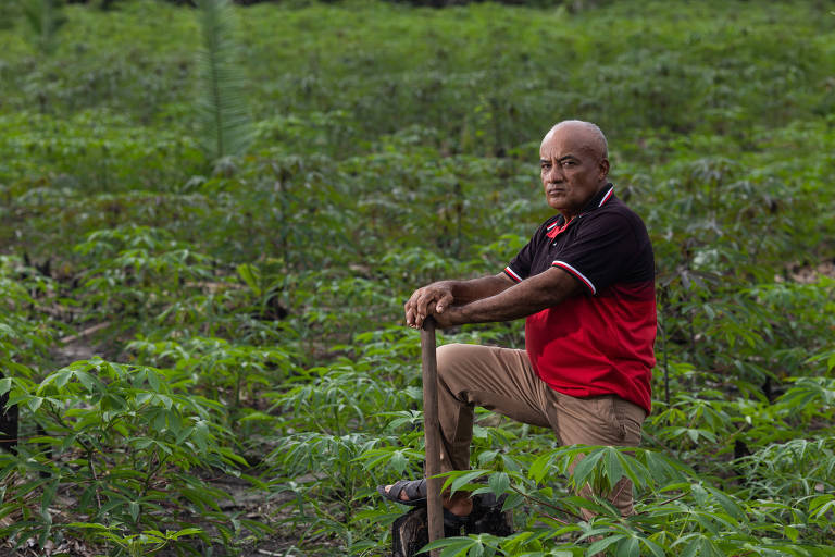
[[[634,222],[628,215],[600,211],[584,218],[578,223],[574,242],[566,245],[551,263],[566,271],[591,294],[598,294],[615,282],[638,282],[645,280],[646,264],[643,264],[643,251],[650,250],[649,278],[653,273],[651,247],[643,223]],[[640,242],[636,225],[647,236]],[[639,231],[638,231],[639,232]],[[643,245],[646,244],[646,245]],[[635,265],[638,265],[635,268]]]

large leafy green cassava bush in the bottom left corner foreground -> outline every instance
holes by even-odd
[[[219,425],[223,406],[170,386],[164,370],[101,359],[78,361],[39,383],[2,380],[9,404],[28,410],[43,434],[0,455],[4,485],[1,516],[12,516],[2,534],[21,545],[36,536],[40,546],[60,532],[78,532],[116,547],[182,544],[179,536],[201,535],[188,509],[230,537],[234,528],[219,507],[227,497],[192,469],[235,471],[246,461],[227,448],[230,432]],[[114,450],[117,448],[116,450]],[[40,475],[34,475],[33,472]],[[29,494],[40,491],[39,500]],[[55,497],[75,502],[78,521],[55,520]],[[39,506],[38,506],[39,505]],[[186,516],[174,519],[171,506]],[[172,524],[175,535],[153,534]],[[65,534],[64,534],[65,535]]]

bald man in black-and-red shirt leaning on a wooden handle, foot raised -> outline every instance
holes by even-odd
[[[438,327],[527,318],[525,350],[438,349],[441,470],[469,468],[475,406],[549,426],[564,445],[640,443],[655,364],[655,263],[644,223],[607,181],[607,157],[595,124],[553,126],[539,162],[558,214],[502,273],[433,283],[406,302],[407,324],[415,329],[427,315]],[[414,505],[425,483],[400,481],[379,492]],[[464,520],[473,507],[468,495],[445,496],[445,516]],[[606,495],[622,515],[633,512],[627,479]]]

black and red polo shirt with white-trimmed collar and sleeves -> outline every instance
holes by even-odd
[[[551,216],[504,272],[515,282],[558,267],[584,292],[529,315],[525,348],[551,388],[618,395],[647,412],[656,363],[655,260],[640,218],[608,184],[579,214]]]

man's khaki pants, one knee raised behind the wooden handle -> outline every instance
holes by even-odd
[[[470,468],[475,406],[550,428],[563,445],[640,444],[643,408],[615,395],[574,398],[558,393],[536,375],[524,350],[450,344],[438,348],[437,358],[440,468],[445,472]],[[579,495],[589,497],[589,488]],[[628,479],[621,479],[607,497],[621,515],[633,512]],[[594,515],[584,511],[584,516]]]

